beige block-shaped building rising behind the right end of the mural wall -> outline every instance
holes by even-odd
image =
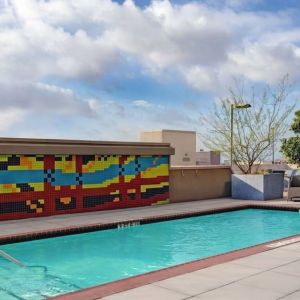
[[[140,141],[170,143],[175,148],[175,155],[171,156],[172,166],[196,164],[196,131],[162,129],[141,132]]]

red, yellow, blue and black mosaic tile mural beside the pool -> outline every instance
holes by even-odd
[[[169,156],[0,155],[0,220],[168,202]]]

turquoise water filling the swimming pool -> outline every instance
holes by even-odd
[[[44,299],[300,233],[298,212],[245,209],[0,246],[0,299]]]

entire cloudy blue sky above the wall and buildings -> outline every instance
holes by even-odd
[[[203,132],[234,80],[286,74],[300,108],[299,15],[299,0],[0,0],[0,136]]]

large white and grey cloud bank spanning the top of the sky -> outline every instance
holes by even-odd
[[[200,90],[203,81],[222,85],[232,75],[267,81],[284,73],[300,77],[294,67],[300,29],[291,28],[288,11],[237,13],[230,7],[247,1],[236,0],[223,1],[223,8],[167,0],[145,9],[111,0],[6,3],[0,12],[0,78],[90,80],[117,68],[126,56],[154,76],[176,70]],[[196,71],[198,83],[191,80]]]

